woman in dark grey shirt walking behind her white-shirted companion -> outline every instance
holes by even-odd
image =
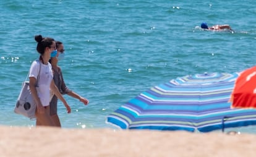
[[[72,90],[69,90],[69,88],[66,86],[61,67],[58,66],[58,61],[61,59],[64,59],[64,45],[61,43],[61,41],[56,41],[56,48],[57,48],[57,55],[54,57],[51,57],[51,60],[49,61],[51,63],[51,66],[53,68],[53,80],[56,85],[56,87],[59,88],[59,91],[62,95],[67,94],[69,96],[72,96],[73,98],[76,98],[77,100],[81,101],[83,104],[87,105],[89,101],[86,98],[83,98],[79,94],[75,93]],[[59,121],[59,116],[57,112],[57,104],[58,104],[58,98],[54,95],[53,98],[50,101],[50,116],[54,121],[54,124],[56,127],[61,127],[61,122]]]

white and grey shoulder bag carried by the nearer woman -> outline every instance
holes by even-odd
[[[40,62],[38,60],[36,60],[36,62],[39,64],[38,75],[36,78],[37,87],[38,79],[40,78]],[[22,83],[22,90],[20,91],[20,95],[16,101],[14,112],[17,114],[22,114],[25,117],[29,117],[30,119],[35,119],[36,104],[30,91],[29,81],[27,81],[27,78],[25,82]]]

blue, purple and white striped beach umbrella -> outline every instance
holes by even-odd
[[[150,88],[106,118],[121,129],[210,132],[256,124],[255,109],[231,109],[228,102],[239,74],[178,77]]]

